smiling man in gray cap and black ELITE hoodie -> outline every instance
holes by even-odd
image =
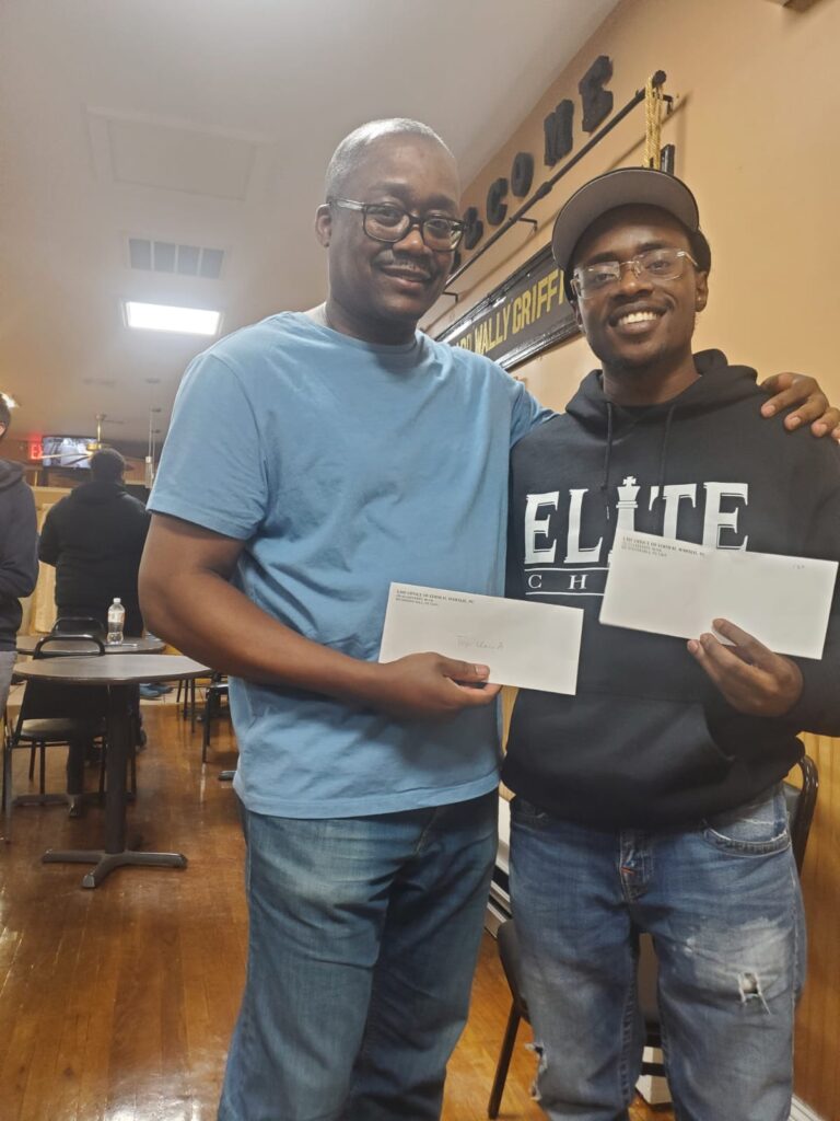
[[[754,371],[692,353],[711,254],[680,180],[600,176],[552,244],[601,369],[512,457],[510,594],[586,612],[577,695],[520,693],[503,771],[540,1099],[627,1118],[648,932],[678,1118],[786,1121],[805,943],[781,781],[799,731],[840,731],[837,597],[822,661],[598,612],[617,528],[837,559],[840,457],[756,423]]]

